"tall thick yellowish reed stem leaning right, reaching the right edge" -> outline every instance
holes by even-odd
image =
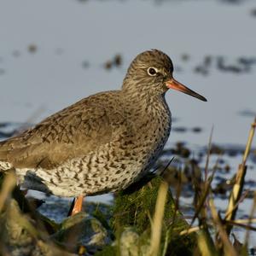
[[[236,173],[236,183],[234,184],[234,187],[230,194],[229,206],[228,206],[226,214],[225,214],[225,220],[228,220],[228,221],[234,220],[236,217],[236,210],[238,207],[237,202],[240,200],[240,197],[241,197],[241,191],[243,188],[244,177],[245,177],[246,171],[247,171],[246,162],[247,162],[247,157],[248,157],[248,154],[250,152],[250,149],[251,149],[251,146],[253,143],[255,127],[256,127],[256,118],[254,119],[254,122],[249,131],[249,136],[247,139],[247,146],[246,146],[245,152],[243,154],[242,163],[241,163],[241,165],[239,165],[237,173]],[[226,228],[228,235],[230,235],[231,229],[232,229],[232,226],[228,225]]]

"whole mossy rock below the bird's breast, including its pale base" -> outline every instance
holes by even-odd
[[[111,219],[116,241],[112,248],[108,247],[96,255],[148,255],[150,219],[154,217],[156,199],[162,182],[162,177],[154,177],[141,189],[132,193],[123,191],[116,195]],[[182,213],[176,210],[172,193],[168,190],[160,250],[163,251],[166,244],[166,255],[193,255],[196,247],[195,234],[179,236],[180,231],[188,227],[189,224]],[[134,242],[129,243],[129,240]]]

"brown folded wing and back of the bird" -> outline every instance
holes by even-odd
[[[117,94],[112,91],[85,98],[0,143],[0,160],[20,168],[51,169],[96,150],[112,140],[113,120],[124,121]]]

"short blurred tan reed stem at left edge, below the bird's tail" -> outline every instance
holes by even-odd
[[[3,209],[4,202],[9,197],[12,190],[15,188],[16,177],[14,172],[9,172],[3,178],[2,190],[0,192],[0,212]]]

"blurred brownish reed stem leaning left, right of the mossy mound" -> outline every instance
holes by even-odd
[[[226,233],[226,230],[224,230],[224,225],[222,224],[222,221],[219,218],[217,209],[214,206],[214,202],[212,198],[209,199],[209,207],[212,212],[213,223],[218,228],[218,236],[220,237],[222,241],[222,245],[224,247],[224,255],[237,256],[236,250],[232,246],[229,236]]]

